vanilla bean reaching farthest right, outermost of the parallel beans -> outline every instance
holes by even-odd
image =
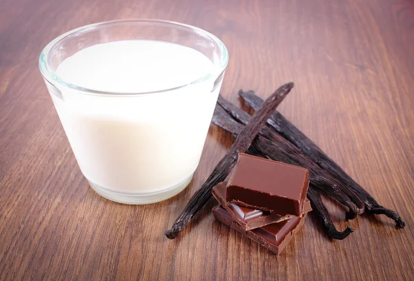
[[[256,96],[253,91],[243,92],[239,91],[239,95],[242,96],[244,101],[253,107],[254,110],[257,109],[262,104],[262,98]],[[269,118],[268,124],[275,129],[280,135],[288,139],[290,143],[293,143],[296,147],[302,150],[306,156],[311,158],[319,167],[322,167],[325,171],[331,174],[333,177],[340,180],[346,187],[351,189],[354,194],[364,202],[368,213],[371,214],[384,214],[395,220],[395,225],[399,228],[405,227],[405,222],[402,220],[399,214],[396,211],[387,209],[386,207],[378,204],[377,200],[371,196],[361,185],[359,185],[351,176],[346,174],[344,169],[339,167],[334,160],[329,158],[322,149],[320,149],[310,138],[308,138],[304,133],[302,133],[295,125],[290,123],[280,112],[275,111],[273,115]],[[339,189],[342,187],[339,186]]]

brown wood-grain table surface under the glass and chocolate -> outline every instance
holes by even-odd
[[[329,240],[319,220],[278,258],[216,222],[211,200],[176,240],[163,233],[233,138],[210,127],[193,182],[129,206],[83,178],[37,67],[59,34],[110,19],[157,18],[216,34],[230,62],[221,93],[268,96],[384,206]],[[414,3],[377,1],[0,0],[1,280],[413,280]],[[344,212],[328,202],[337,227]]]

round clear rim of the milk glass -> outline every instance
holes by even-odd
[[[72,83],[68,83],[66,81],[64,81],[63,79],[61,79],[59,76],[57,76],[57,74],[52,71],[50,69],[50,65],[48,63],[48,55],[50,50],[53,48],[53,46],[55,46],[57,43],[59,43],[59,41],[65,39],[66,37],[75,34],[77,32],[85,32],[88,30],[92,30],[94,28],[98,28],[102,25],[112,25],[115,23],[161,23],[164,25],[169,25],[170,27],[179,27],[179,28],[186,28],[188,30],[190,30],[191,32],[195,32],[195,33],[199,33],[204,35],[204,37],[207,37],[208,39],[210,39],[211,41],[214,41],[218,47],[219,50],[221,52],[221,55],[219,57],[219,67],[213,67],[213,70],[211,70],[210,72],[208,72],[207,74],[205,74],[204,76],[201,76],[199,79],[196,79],[193,82],[190,83],[186,83],[184,85],[179,85],[177,87],[172,87],[172,88],[168,88],[168,89],[162,89],[162,90],[155,90],[155,91],[151,91],[151,92],[111,92],[111,91],[100,91],[100,90],[94,90],[94,89],[89,89],[86,87],[81,87]],[[155,93],[161,93],[161,92],[168,92],[168,91],[172,91],[172,90],[177,90],[180,89],[182,87],[187,87],[189,85],[195,85],[197,83],[201,83],[203,81],[207,81],[210,79],[215,79],[218,76],[220,76],[224,70],[226,70],[226,66],[228,64],[228,51],[226,46],[224,45],[223,42],[221,42],[220,39],[218,39],[217,37],[215,37],[215,35],[211,34],[210,32],[207,32],[206,30],[203,30],[201,28],[196,28],[193,25],[188,25],[185,23],[178,23],[176,21],[166,21],[166,20],[161,20],[161,19],[117,19],[117,20],[113,20],[113,21],[101,21],[99,23],[92,23],[89,25],[83,25],[80,28],[75,28],[73,30],[70,30],[66,33],[61,34],[59,37],[56,37],[55,39],[53,39],[52,41],[50,41],[50,43],[48,43],[48,45],[46,45],[45,48],[43,48],[43,50],[41,51],[41,54],[39,56],[39,69],[40,72],[43,76],[44,79],[46,79],[46,81],[48,81],[49,83],[51,83],[52,85],[55,84],[60,84],[63,85],[65,87],[69,87],[72,90],[77,90],[77,91],[81,91],[81,92],[86,92],[88,94],[94,94],[94,95],[116,95],[116,96],[135,96],[135,95],[141,95],[141,94],[155,94]]]

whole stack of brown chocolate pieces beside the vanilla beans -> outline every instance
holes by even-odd
[[[307,169],[239,154],[224,183],[213,187],[217,220],[279,254],[312,210]]]

